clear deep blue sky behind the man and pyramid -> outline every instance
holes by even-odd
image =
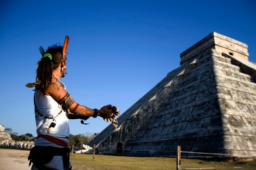
[[[61,81],[77,103],[117,106],[121,114],[179,67],[184,50],[215,31],[248,45],[256,62],[256,1],[0,2],[0,124],[36,136],[33,91],[39,46],[70,37]],[[109,123],[70,120],[70,133],[99,133]],[[132,126],[132,125],[131,125]]]

